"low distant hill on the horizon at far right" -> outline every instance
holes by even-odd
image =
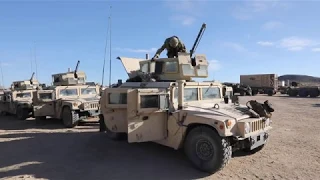
[[[320,77],[307,76],[307,75],[298,75],[298,74],[286,74],[278,77],[279,81],[290,82],[295,81],[304,84],[320,84]]]

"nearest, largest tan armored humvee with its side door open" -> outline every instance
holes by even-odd
[[[118,59],[129,79],[106,88],[100,101],[100,131],[111,139],[184,149],[196,168],[210,173],[221,170],[232,152],[258,151],[267,143],[270,104],[241,105],[238,96],[229,99],[230,87],[193,81],[208,77],[205,55]]]

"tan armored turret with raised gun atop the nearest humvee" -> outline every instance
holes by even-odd
[[[175,58],[146,59],[118,57],[126,69],[129,79],[127,82],[164,82],[208,77],[208,61],[204,54],[194,55],[206,24],[203,23],[190,53],[179,52]]]

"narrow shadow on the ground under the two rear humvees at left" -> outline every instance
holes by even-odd
[[[97,128],[98,123],[79,123],[76,128],[92,129]],[[0,116],[0,130],[26,130],[26,129],[42,129],[53,130],[65,128],[61,120],[54,118],[47,118],[46,120],[36,122],[35,119],[29,118],[27,120],[18,120],[15,116]]]

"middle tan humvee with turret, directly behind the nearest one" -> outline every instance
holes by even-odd
[[[81,122],[98,121],[100,87],[86,84],[85,72],[75,71],[52,75],[53,86],[34,93],[34,116],[36,121],[47,116],[62,119],[67,128],[73,128]]]

